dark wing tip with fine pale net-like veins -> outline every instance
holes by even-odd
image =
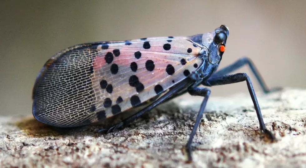
[[[66,127],[86,125],[94,118],[91,103],[91,46],[79,46],[57,55],[37,78],[33,93],[33,115],[43,123]]]

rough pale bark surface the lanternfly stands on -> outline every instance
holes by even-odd
[[[106,135],[96,133],[101,125],[58,132],[32,116],[2,116],[0,166],[306,167],[306,90],[257,96],[276,142],[260,133],[249,95],[212,96],[186,163],[181,149],[201,98],[176,99]]]

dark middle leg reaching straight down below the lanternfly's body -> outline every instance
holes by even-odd
[[[204,99],[201,103],[201,106],[200,106],[199,113],[198,113],[197,118],[195,120],[195,125],[192,128],[192,131],[190,133],[188,142],[185,146],[187,156],[188,156],[188,161],[191,161],[192,160],[192,157],[191,157],[191,143],[192,143],[193,137],[195,136],[195,132],[199,127],[200,121],[203,117],[203,113],[204,113],[204,110],[205,110],[205,107],[206,107],[206,103],[207,103],[207,100],[208,100],[209,95],[210,95],[210,89],[208,89],[208,88],[191,88],[191,89],[188,90],[188,92],[189,92],[189,94],[191,94],[193,96],[204,97]]]

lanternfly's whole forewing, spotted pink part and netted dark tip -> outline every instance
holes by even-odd
[[[169,89],[203,63],[188,37],[88,43],[53,56],[33,89],[33,115],[72,127],[102,121]]]

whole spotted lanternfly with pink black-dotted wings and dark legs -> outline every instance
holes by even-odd
[[[204,97],[185,146],[191,161],[191,143],[210,96],[209,88],[198,86],[246,81],[260,130],[273,140],[264,125],[249,76],[230,73],[248,64],[265,93],[275,89],[267,89],[248,58],[216,71],[228,36],[228,28],[221,25],[215,31],[194,36],[92,42],[64,49],[45,63],[36,78],[33,116],[51,126],[77,127],[146,105],[122,122],[99,131],[111,132],[158,104],[188,92]]]

